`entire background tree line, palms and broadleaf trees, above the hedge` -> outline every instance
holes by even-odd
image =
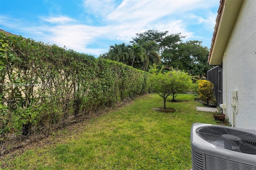
[[[183,42],[181,33],[169,34],[168,31],[148,30],[137,33],[132,45],[110,45],[108,53],[100,55],[134,68],[148,71],[148,66],[164,65],[164,68],[177,68],[191,75],[202,76],[212,68],[207,63],[209,49],[198,40]]]

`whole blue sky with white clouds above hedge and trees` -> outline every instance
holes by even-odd
[[[0,0],[0,29],[98,57],[147,30],[210,48],[219,0]]]

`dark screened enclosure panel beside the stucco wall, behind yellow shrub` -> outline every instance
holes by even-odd
[[[207,80],[214,84],[214,98],[217,105],[222,104],[222,65],[213,67],[207,71]]]

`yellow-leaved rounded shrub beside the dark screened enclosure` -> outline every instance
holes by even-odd
[[[198,95],[207,105],[212,100],[213,88],[213,83],[208,80],[200,80],[198,83]]]

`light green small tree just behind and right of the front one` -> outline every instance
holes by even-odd
[[[178,69],[172,69],[170,71],[169,81],[171,82],[172,101],[176,101],[174,98],[175,95],[184,93],[192,87],[192,77],[188,73]]]

